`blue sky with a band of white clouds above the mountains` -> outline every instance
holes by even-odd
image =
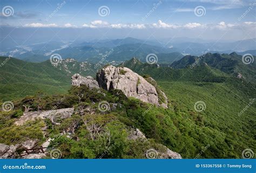
[[[256,38],[256,1],[1,0],[4,39]]]

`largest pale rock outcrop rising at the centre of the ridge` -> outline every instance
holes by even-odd
[[[143,102],[167,107],[167,97],[166,105],[162,105],[156,87],[129,68],[107,66],[98,71],[96,80],[105,90],[119,89],[127,97],[135,97]]]

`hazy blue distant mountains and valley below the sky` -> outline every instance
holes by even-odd
[[[196,40],[189,38],[170,38],[158,40],[140,40],[124,38],[114,40],[92,41],[51,41],[19,47],[1,47],[1,55],[12,55],[28,62],[43,62],[50,59],[53,53],[60,54],[62,59],[73,58],[79,62],[121,63],[135,56],[145,62],[148,54],[156,54],[158,63],[171,64],[183,55],[199,56],[205,52],[226,53],[236,52],[239,55],[250,53],[256,55],[255,39],[234,42],[214,42],[212,40]],[[11,45],[11,44],[9,44]],[[107,56],[107,57],[106,57]]]

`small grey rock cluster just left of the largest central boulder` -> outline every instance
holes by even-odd
[[[71,84],[75,86],[86,85],[89,88],[99,88],[98,82],[91,76],[83,77],[79,74],[75,74],[71,77]]]

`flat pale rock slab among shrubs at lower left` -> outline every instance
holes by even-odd
[[[41,119],[49,118],[53,124],[58,124],[56,121],[71,117],[73,112],[74,112],[73,108],[65,108],[65,109],[57,109],[57,110],[50,110],[50,111],[42,111],[39,114],[38,112],[23,113],[23,116],[19,118],[15,122],[15,124],[23,125],[26,121],[36,120],[37,118],[41,118]]]

